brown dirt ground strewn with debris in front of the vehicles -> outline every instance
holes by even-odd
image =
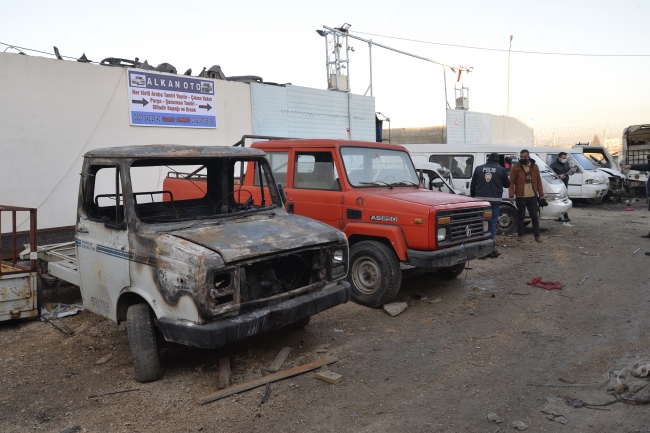
[[[572,227],[542,221],[543,244],[499,236],[498,259],[477,260],[461,277],[404,279],[390,317],[352,302],[278,330],[200,350],[167,344],[161,380],[133,380],[126,326],[89,312],[61,319],[65,338],[37,320],[0,324],[0,431],[61,432],[646,432],[648,406],[573,408],[565,398],[605,403],[607,372],[650,356],[650,231],[645,202],[575,206]],[[640,251],[633,254],[637,248]],[[536,276],[568,283],[562,292],[525,284]],[[589,276],[583,284],[579,282]],[[46,292],[80,302],[79,289]],[[283,369],[333,355],[328,384],[314,373],[198,405],[217,390],[218,359],[229,357],[232,384],[262,376],[283,347]],[[112,359],[97,365],[107,355]],[[137,388],[98,398],[91,395]],[[549,420],[554,410],[569,422]],[[496,413],[503,422],[486,418]],[[500,429],[500,430],[499,430]]]

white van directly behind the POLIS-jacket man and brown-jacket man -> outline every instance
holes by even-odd
[[[464,195],[469,195],[474,168],[485,164],[490,153],[499,154],[499,164],[509,169],[512,161],[519,159],[521,149],[507,145],[467,145],[467,144],[405,144],[411,159],[417,167],[424,162],[434,162],[449,172],[449,183]],[[541,209],[542,219],[557,219],[571,209],[573,203],[567,196],[567,189],[560,178],[546,165],[543,159],[531,152],[530,157],[538,164],[544,194],[548,206]],[[509,170],[508,170],[509,171]],[[427,185],[425,185],[427,186]],[[427,186],[428,187],[428,186]],[[529,217],[526,217],[526,222]],[[508,191],[504,189],[497,233],[511,234],[517,230],[517,208],[508,200]]]

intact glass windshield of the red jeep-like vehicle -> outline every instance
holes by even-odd
[[[419,187],[420,180],[409,154],[402,150],[342,147],[341,156],[350,185]]]

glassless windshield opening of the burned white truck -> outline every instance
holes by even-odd
[[[262,181],[244,187],[249,164]],[[280,203],[262,157],[140,159],[131,164],[129,174],[135,213],[145,223],[227,218]],[[114,194],[102,199],[112,199],[114,206]]]

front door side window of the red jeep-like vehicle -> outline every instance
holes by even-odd
[[[338,173],[331,152],[298,152],[293,187],[340,191]]]

